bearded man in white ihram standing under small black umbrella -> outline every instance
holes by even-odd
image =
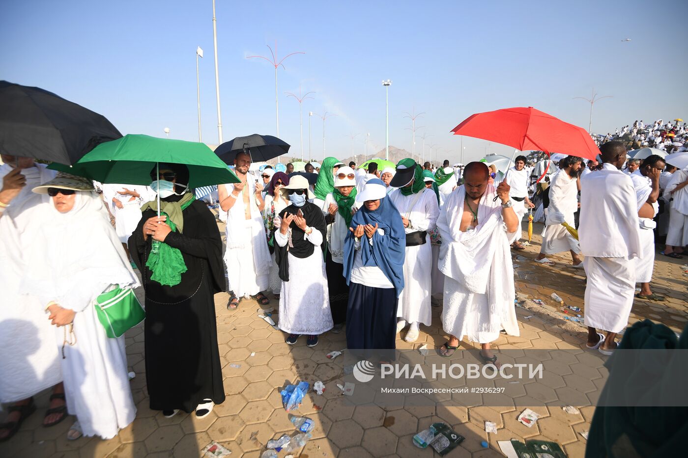
[[[230,289],[228,309],[239,307],[242,296],[254,296],[261,305],[270,303],[263,293],[270,285],[272,262],[261,213],[265,206],[263,186],[248,174],[250,164],[250,154],[239,152],[234,165],[241,182],[217,186],[219,206],[227,212],[224,262]]]

